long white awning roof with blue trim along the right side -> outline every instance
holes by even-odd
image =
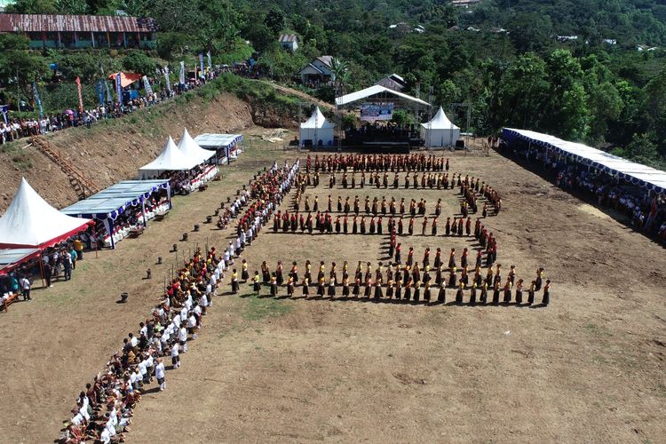
[[[546,147],[556,153],[567,155],[575,159],[576,162],[589,165],[597,170],[603,170],[613,176],[617,175],[633,185],[642,186],[656,193],[666,193],[666,171],[631,162],[582,143],[567,142],[567,140],[558,139],[548,134],[512,128],[503,129],[502,139],[507,141],[511,141],[511,139],[526,140],[536,146]]]

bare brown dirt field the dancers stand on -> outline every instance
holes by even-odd
[[[178,198],[169,218],[138,240],[89,254],[72,281],[0,314],[0,440],[57,438],[75,395],[157,301],[175,261],[171,245],[182,253],[228,242],[231,230],[208,225],[189,244],[178,239],[254,172],[295,155],[250,150],[223,170],[223,181]],[[167,372],[168,389],[147,393],[135,410],[128,441],[663,442],[664,250],[503,157],[449,156],[452,171],[503,195],[503,212],[484,222],[496,234],[498,261],[504,275],[515,264],[526,280],[544,266],[550,306],[272,299],[243,286],[241,297],[215,300],[182,368]],[[457,209],[452,190],[329,190],[322,179],[307,194],[320,205],[328,194],[334,202],[424,197],[429,212],[441,197],[440,233]],[[325,260],[328,272],[330,261],[376,266],[386,241],[265,230],[243,257],[250,272],[262,260],[297,260],[303,270],[305,259]],[[400,242],[403,256],[413,246],[417,260],[426,246],[472,245],[441,235]],[[166,264],[156,266],[157,256]],[[147,268],[153,280],[142,280]],[[116,305],[122,291],[130,301]]]

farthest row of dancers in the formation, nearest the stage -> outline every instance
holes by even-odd
[[[308,155],[305,172],[448,171],[448,159],[435,155]]]

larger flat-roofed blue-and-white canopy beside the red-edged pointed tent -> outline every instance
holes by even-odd
[[[147,226],[146,201],[152,194],[162,189],[167,191],[169,208],[171,208],[169,179],[157,179],[125,180],[60,211],[69,216],[101,220],[107,228],[107,233],[111,236],[111,248],[115,248],[113,236],[115,220],[125,210],[141,205],[141,210],[144,212],[143,225]]]

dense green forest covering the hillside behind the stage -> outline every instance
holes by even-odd
[[[309,59],[327,54],[338,60],[346,91],[397,73],[408,92],[427,99],[432,91],[445,109],[468,103],[479,134],[527,128],[666,164],[664,0],[481,0],[469,8],[442,0],[18,0],[7,12],[117,10],[155,17],[154,59],[210,50],[221,63],[256,53],[259,68],[291,82]],[[283,32],[299,36],[295,54],[280,50]],[[0,41],[5,78],[17,41]],[[49,56],[69,58],[68,74],[84,80],[106,57]],[[44,71],[39,55],[21,50],[20,57],[21,74]],[[151,63],[123,57],[106,63]]]

